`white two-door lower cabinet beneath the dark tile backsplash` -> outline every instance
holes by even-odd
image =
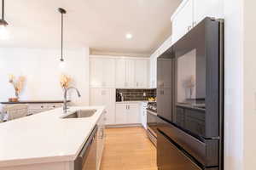
[[[141,123],[139,105],[138,104],[116,104],[115,120],[116,120],[116,124]]]

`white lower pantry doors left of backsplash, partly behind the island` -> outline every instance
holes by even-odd
[[[115,124],[115,88],[90,88],[90,105],[106,105],[106,125]]]

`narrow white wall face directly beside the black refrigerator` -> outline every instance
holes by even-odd
[[[243,0],[224,0],[224,169],[243,166]],[[250,170],[250,169],[248,169]]]

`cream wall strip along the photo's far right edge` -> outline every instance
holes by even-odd
[[[244,169],[256,168],[256,2],[244,0]]]

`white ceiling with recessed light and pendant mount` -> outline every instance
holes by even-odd
[[[170,17],[181,0],[6,0],[11,38],[1,47],[59,48],[66,8],[65,48],[152,54],[171,35]],[[131,33],[131,40],[125,33]]]

